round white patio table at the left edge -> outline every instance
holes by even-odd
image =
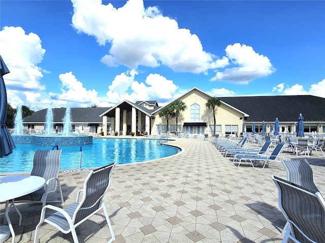
[[[34,192],[44,185],[45,179],[39,176],[13,175],[0,177],[0,202],[6,202],[4,214],[8,222],[8,226],[0,226],[0,243],[5,242],[10,237],[10,233],[12,235],[12,243],[15,242],[15,231],[9,218],[10,206],[13,206],[17,211],[20,217],[19,225],[21,224],[21,214],[16,208],[13,199]]]

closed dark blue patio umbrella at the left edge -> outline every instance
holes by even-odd
[[[7,91],[3,75],[9,73],[9,70],[0,55],[0,158],[12,153],[16,148],[14,141],[6,125],[7,121]]]

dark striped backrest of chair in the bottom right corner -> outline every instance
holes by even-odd
[[[278,188],[278,204],[300,242],[324,242],[325,201],[319,192],[271,176]]]

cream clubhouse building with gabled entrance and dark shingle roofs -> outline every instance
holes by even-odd
[[[89,128],[90,133],[103,129],[121,135],[159,134],[183,132],[190,134],[213,133],[212,110],[206,107],[212,96],[198,88],[192,88],[164,106],[157,101],[131,102],[123,100],[113,107],[71,108],[74,131],[82,131],[82,125]],[[290,96],[240,96],[220,97],[220,106],[216,108],[216,133],[241,133],[244,124],[245,132],[262,131],[262,123],[266,123],[266,132],[270,132],[276,118],[279,119],[280,132],[296,132],[299,114],[304,116],[305,132],[325,133],[325,98],[312,95]],[[176,119],[167,120],[159,117],[161,109],[176,100],[186,104],[180,112],[176,129]],[[23,119],[24,126],[43,128],[46,110],[37,111]],[[66,108],[55,108],[53,123],[62,128],[62,119]],[[112,134],[112,133],[111,133]]]

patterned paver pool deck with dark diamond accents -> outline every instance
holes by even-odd
[[[286,178],[280,164],[269,168],[235,167],[229,158],[203,137],[175,138],[169,142],[185,149],[177,156],[116,166],[105,196],[116,240],[122,242],[282,242],[285,219],[277,204],[274,174]],[[64,152],[64,150],[63,150]],[[325,159],[315,152],[309,158],[282,153],[287,159],[309,161],[314,182],[324,194]],[[73,203],[88,171],[60,171],[65,207]],[[18,204],[10,211],[16,242],[33,242],[41,205]],[[109,230],[102,215],[95,215],[77,229],[80,242],[107,242]],[[1,224],[3,224],[3,216]],[[6,242],[11,242],[10,237]],[[44,224],[40,242],[73,242]]]

